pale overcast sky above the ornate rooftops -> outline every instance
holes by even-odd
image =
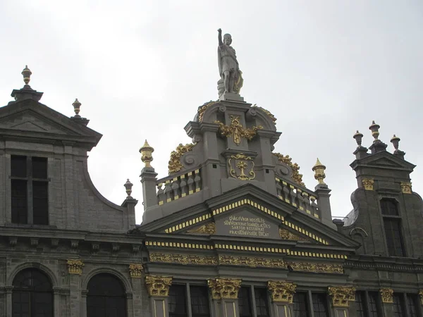
[[[185,124],[218,97],[219,27],[233,37],[241,95],[278,118],[274,151],[299,164],[309,189],[317,157],[326,166],[333,216],[353,209],[353,135],[369,147],[372,120],[388,151],[400,137],[423,194],[421,0],[4,0],[0,105],[23,87],[25,65],[43,104],[73,116],[78,98],[103,135],[88,159],[94,185],[120,205],[129,178],[141,223],[139,149],[154,147],[163,178],[171,151],[191,141]]]

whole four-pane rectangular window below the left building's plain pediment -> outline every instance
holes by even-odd
[[[11,156],[12,223],[49,224],[47,158]]]

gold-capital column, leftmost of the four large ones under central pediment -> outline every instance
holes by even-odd
[[[168,296],[172,278],[168,276],[145,275],[145,285],[150,297],[153,317],[168,317]]]

